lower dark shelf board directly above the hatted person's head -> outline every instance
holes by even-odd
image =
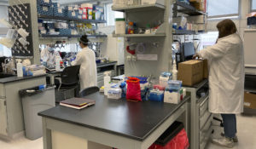
[[[40,38],[79,38],[82,35],[40,35]],[[107,37],[107,35],[87,35],[88,38]]]

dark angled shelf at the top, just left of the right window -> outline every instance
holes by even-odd
[[[201,14],[207,15],[207,13],[197,10],[197,9],[195,9],[195,7],[193,7],[187,3],[176,1],[174,3],[174,5],[181,7],[181,9],[173,9],[174,11],[177,11],[178,13],[188,14],[188,15],[201,15]]]

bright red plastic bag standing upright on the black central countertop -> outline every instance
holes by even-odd
[[[140,80],[136,77],[128,77],[126,99],[127,100],[142,100]]]

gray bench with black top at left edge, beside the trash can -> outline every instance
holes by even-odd
[[[46,75],[0,78],[0,137],[24,134],[24,120],[19,91],[46,84]]]

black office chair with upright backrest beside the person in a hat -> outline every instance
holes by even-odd
[[[58,91],[64,93],[64,100],[67,99],[65,92],[79,87],[79,70],[80,66],[68,66],[61,72],[60,77],[55,77],[55,80],[59,82],[56,84]]]

